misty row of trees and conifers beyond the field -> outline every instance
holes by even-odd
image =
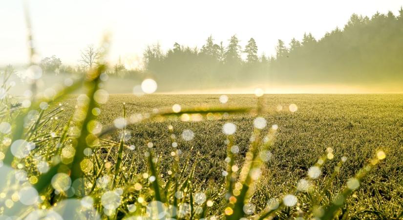
[[[82,51],[83,71],[96,64],[96,50]],[[201,48],[173,44],[167,51],[160,44],[146,47],[144,68],[127,70],[120,62],[109,74],[149,75],[164,88],[217,88],[254,82],[280,83],[373,83],[403,81],[403,9],[395,16],[376,13],[371,18],[353,14],[343,28],[336,27],[321,39],[304,33],[288,44],[278,40],[276,54],[259,53],[251,38],[243,47],[233,35],[226,44],[209,36]],[[59,64],[45,58],[44,69]],[[60,61],[60,60],[59,60]],[[66,70],[66,69],[65,69]]]

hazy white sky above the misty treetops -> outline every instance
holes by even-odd
[[[212,34],[224,44],[236,34],[244,46],[253,37],[259,53],[273,54],[277,39],[287,44],[312,32],[318,39],[352,13],[395,15],[402,0],[27,0],[41,57],[57,55],[75,64],[80,50],[112,33],[111,61],[135,60],[147,44],[164,49],[175,42],[204,44]],[[22,0],[0,0],[0,65],[28,60]]]

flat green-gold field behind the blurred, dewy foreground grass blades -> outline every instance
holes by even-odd
[[[153,112],[154,109],[170,109],[174,104],[179,104],[182,108],[257,105],[257,97],[254,95],[228,97],[228,102],[221,104],[219,95],[110,95],[108,102],[101,107],[98,120],[104,126],[113,124],[114,119],[122,117],[123,103],[126,104],[127,116]],[[313,180],[318,191],[328,187],[321,192],[324,196],[318,205],[332,200],[332,197],[344,188],[347,180],[363,168],[377,150],[382,149],[386,153],[386,159],[365,177],[353,196],[347,198],[342,212],[348,213],[348,218],[402,218],[403,95],[284,94],[264,95],[261,100],[265,106],[262,116],[268,123],[263,133],[274,124],[278,129],[276,140],[269,149],[271,158],[265,162],[262,176],[251,198],[251,202],[256,206],[256,213],[266,206],[268,199],[286,195],[330,147],[334,150],[334,158],[324,163],[321,176]],[[68,118],[75,102],[75,96],[62,102],[65,111],[59,120]],[[297,111],[291,112],[290,104],[296,104]],[[227,166],[227,138],[222,132],[223,125],[226,122],[236,125],[233,144],[239,146],[240,150],[235,161],[236,164],[242,165],[249,148],[255,117],[254,114],[230,114],[228,117],[216,116],[217,120],[204,117],[201,121],[189,122],[173,118],[129,125],[125,144],[134,145],[135,149],[124,150],[122,165],[126,168],[126,173],[143,173],[147,167],[147,157],[144,156],[148,149],[147,143],[152,142],[159,158],[161,175],[168,176],[167,172],[171,169],[174,158],[170,154],[172,147],[168,130],[168,126],[172,125],[177,148],[181,152],[181,167],[187,158],[190,158],[190,164],[198,163],[192,179],[193,184],[201,189],[213,185],[220,191],[219,188],[225,184],[225,176],[222,173]],[[191,141],[181,138],[181,133],[187,129],[194,132]],[[120,134],[115,132],[107,138],[118,143]],[[117,148],[111,152],[112,155],[117,154]],[[105,149],[99,151],[100,155],[106,153]],[[346,162],[331,181],[330,187],[326,186],[327,180],[333,179],[332,173],[343,156],[347,157]],[[110,161],[114,163],[113,158]],[[186,172],[191,172],[191,166],[188,166]],[[313,208],[310,199],[314,194],[297,194],[297,207],[284,209],[278,216],[297,217],[298,213],[308,212]],[[216,206],[210,209],[209,215],[215,215],[221,208],[225,207]]]

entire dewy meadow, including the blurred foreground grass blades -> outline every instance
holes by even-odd
[[[108,94],[104,68],[23,96],[4,72],[1,218],[403,217],[401,94]]]

